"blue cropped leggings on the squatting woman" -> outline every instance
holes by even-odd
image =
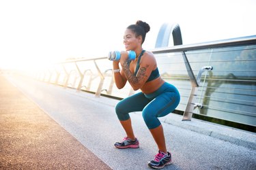
[[[159,117],[166,116],[180,103],[180,93],[172,84],[165,82],[150,94],[138,92],[122,101],[115,107],[119,120],[128,120],[130,112],[141,112],[148,129],[160,126]]]

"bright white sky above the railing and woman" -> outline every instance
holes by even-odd
[[[124,50],[124,31],[137,20],[151,27],[145,50],[165,22],[180,25],[183,44],[256,35],[255,9],[256,0],[0,0],[0,69]]]

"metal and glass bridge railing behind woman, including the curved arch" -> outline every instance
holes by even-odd
[[[168,47],[171,33],[175,46]],[[181,44],[180,27],[163,24],[152,52],[162,78],[180,90],[177,110],[184,112],[183,120],[197,114],[256,126],[256,35]],[[121,90],[115,87],[106,56],[57,63],[36,77],[96,97],[122,99],[134,93],[129,84]]]

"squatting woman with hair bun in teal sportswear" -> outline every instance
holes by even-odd
[[[180,94],[175,86],[160,77],[154,54],[143,50],[142,44],[148,31],[150,25],[141,20],[127,27],[124,33],[124,46],[126,51],[136,52],[136,58],[129,61],[128,52],[122,51],[120,60],[113,61],[117,88],[124,88],[128,81],[134,90],[141,90],[123,99],[115,107],[117,117],[127,135],[122,141],[116,142],[115,147],[139,148],[139,140],[133,133],[129,113],[142,111],[145,124],[158,146],[158,154],[148,165],[161,169],[171,164],[171,154],[167,152],[164,131],[158,118],[173,112],[180,103]],[[121,70],[119,65],[122,67]]]

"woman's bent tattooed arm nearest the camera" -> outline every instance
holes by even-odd
[[[145,52],[143,56],[141,56],[141,62],[139,63],[139,71],[137,75],[134,75],[130,71],[130,66],[128,65],[128,54],[122,53],[122,57],[120,59],[120,63],[122,65],[122,71],[130,85],[132,86],[133,90],[139,90],[142,88],[150,77],[152,70],[156,66],[156,60],[154,55],[150,52]]]

